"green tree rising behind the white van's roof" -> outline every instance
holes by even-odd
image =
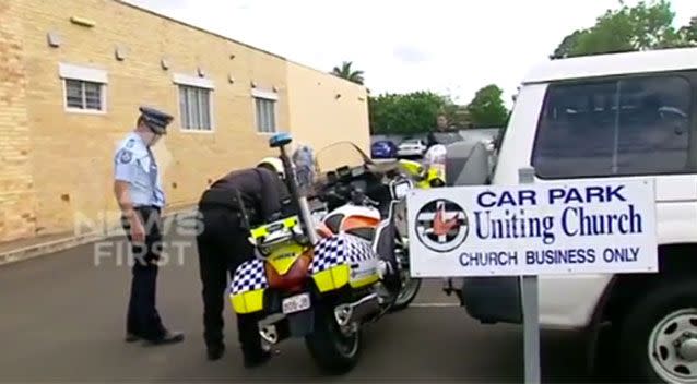
[[[566,36],[552,59],[689,46],[690,28],[673,27],[675,12],[668,0],[607,10],[590,28]]]

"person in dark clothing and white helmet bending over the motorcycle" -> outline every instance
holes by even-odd
[[[225,351],[222,311],[227,276],[232,279],[235,269],[255,256],[240,204],[244,203],[251,226],[277,218],[290,200],[284,178],[282,161],[265,158],[255,168],[232,171],[215,181],[199,201],[203,231],[197,237],[197,244],[203,285],[203,337],[210,360],[220,359]],[[237,336],[247,368],[270,358],[261,348],[258,320],[256,315],[237,316]]]

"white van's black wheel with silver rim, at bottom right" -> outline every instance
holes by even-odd
[[[672,279],[637,300],[621,321],[617,357],[623,379],[697,381],[697,283]]]

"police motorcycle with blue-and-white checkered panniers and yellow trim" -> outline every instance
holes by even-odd
[[[381,226],[373,241],[349,233],[318,236],[307,191],[298,188],[286,153],[291,142],[280,133],[269,143],[281,153],[299,214],[250,228],[257,257],[235,271],[229,300],[236,313],[260,319],[265,350],[303,337],[322,370],[341,374],[358,361],[364,325],[387,313],[397,297],[394,274],[387,274],[388,263],[374,247],[389,243],[382,240],[389,230]]]

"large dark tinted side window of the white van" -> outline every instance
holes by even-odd
[[[545,179],[694,172],[692,99],[681,75],[551,85],[532,165]]]

